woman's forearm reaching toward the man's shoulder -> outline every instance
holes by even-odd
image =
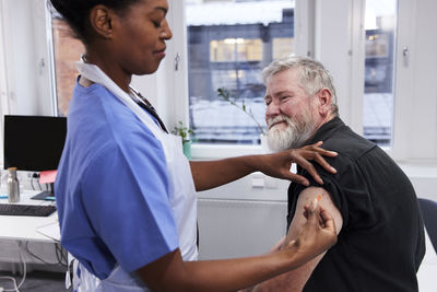
[[[241,178],[256,168],[259,155],[247,155],[217,161],[191,161],[196,190],[206,190]]]

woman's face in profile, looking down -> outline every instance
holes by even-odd
[[[173,34],[166,14],[167,0],[143,0],[120,15],[115,46],[122,70],[131,74],[150,74],[165,57]]]

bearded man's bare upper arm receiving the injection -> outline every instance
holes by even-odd
[[[295,240],[306,222],[306,218],[304,217],[304,206],[309,205],[311,200],[317,198],[319,195],[321,195],[319,205],[333,217],[336,233],[340,233],[343,225],[343,219],[339,209],[332,202],[330,194],[320,187],[308,187],[305,188],[298,197],[296,211],[288,229],[287,241]],[[259,284],[253,291],[302,291],[305,283],[308,281],[309,276],[320,262],[324,254],[326,253],[317,256],[297,269]]]

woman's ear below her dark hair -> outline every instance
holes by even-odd
[[[105,5],[95,5],[90,11],[90,24],[94,33],[103,38],[111,38],[116,13]]]

